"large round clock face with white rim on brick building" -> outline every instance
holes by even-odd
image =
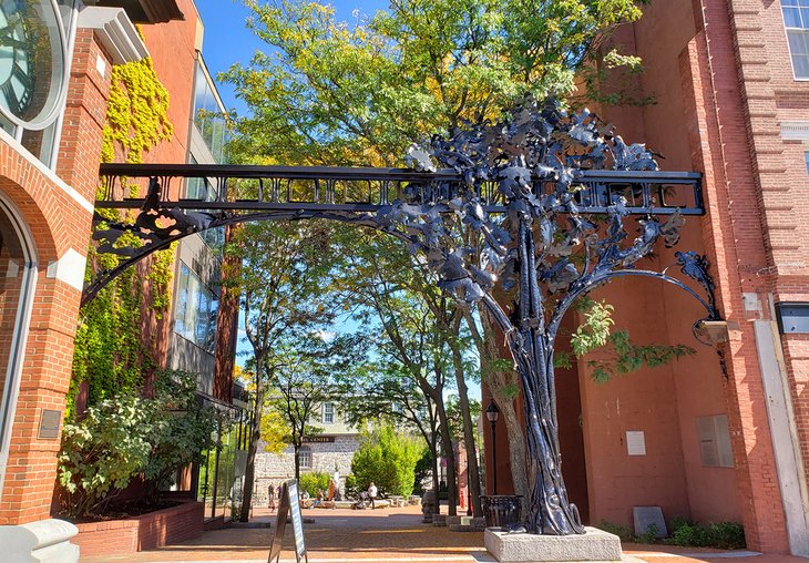
[[[64,30],[52,0],[0,0],[0,112],[48,126],[64,88]]]

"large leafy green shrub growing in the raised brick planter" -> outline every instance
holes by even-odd
[[[195,398],[196,376],[156,375],[153,398],[121,396],[64,424],[59,482],[71,516],[102,513],[135,478],[146,479],[146,503],[182,467],[213,446],[216,418]]]

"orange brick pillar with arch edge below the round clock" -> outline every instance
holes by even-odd
[[[57,438],[40,438],[38,430],[44,410],[63,413],[70,387],[110,70],[93,32],[79,30],[57,168],[64,182],[38,170],[19,149],[0,143],[0,162],[12,163],[0,170],[0,190],[31,228],[39,263],[0,525],[50,515],[61,423]]]

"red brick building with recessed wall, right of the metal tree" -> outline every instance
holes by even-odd
[[[565,479],[593,523],[632,524],[633,506],[657,505],[667,519],[741,522],[752,550],[809,556],[809,2],[653,1],[644,12],[616,41],[643,58],[635,94],[656,103],[597,110],[665,155],[664,170],[704,174],[708,213],[680,245],[713,264],[724,370],[694,341],[700,311],[684,293],[637,279],[602,289],[616,327],[697,354],[606,385],[584,362],[560,373]],[[674,262],[665,249],[656,259]],[[508,455],[498,460],[508,491]]]

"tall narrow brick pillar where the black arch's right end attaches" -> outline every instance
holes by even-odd
[[[680,54],[685,113],[695,170],[704,174],[703,234],[730,341],[725,392],[748,547],[786,552],[782,500],[752,325],[741,294],[768,265],[759,192],[746,144],[734,44],[725,2],[706,2],[705,28]],[[702,21],[698,29],[702,28]],[[708,62],[710,61],[711,64]],[[756,282],[755,276],[752,277]]]

